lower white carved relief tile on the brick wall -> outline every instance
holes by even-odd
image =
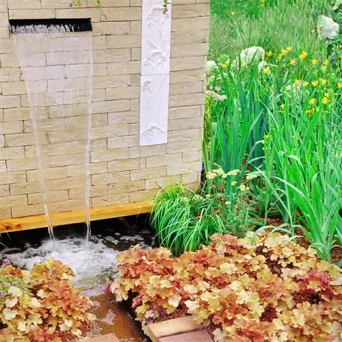
[[[140,146],[168,141],[168,99],[170,75],[141,78]]]

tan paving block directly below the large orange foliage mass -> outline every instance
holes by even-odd
[[[203,330],[203,326],[195,324],[191,316],[179,317],[169,319],[168,321],[161,321],[154,324],[148,324],[148,326],[144,328],[144,332],[148,337],[150,337],[150,339],[153,342],[162,341],[161,338],[171,336],[173,337],[173,335],[185,334],[187,332],[193,332],[196,330]],[[208,341],[211,341],[211,339],[209,339]],[[200,342],[202,342],[202,340],[200,340]]]

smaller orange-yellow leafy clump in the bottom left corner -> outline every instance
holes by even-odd
[[[92,305],[70,282],[73,271],[57,260],[31,272],[5,262],[0,267],[0,341],[63,341],[83,334]],[[83,329],[84,330],[84,329]]]

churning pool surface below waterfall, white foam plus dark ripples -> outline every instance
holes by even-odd
[[[115,235],[115,234],[114,234]],[[140,235],[133,237],[92,235],[88,241],[88,250],[85,241],[79,236],[68,236],[55,241],[48,239],[40,244],[25,243],[23,248],[3,248],[1,254],[18,267],[31,269],[34,264],[42,263],[47,258],[62,261],[75,273],[72,281],[79,288],[88,291],[88,294],[103,292],[109,278],[117,274],[116,257],[120,250],[131,248],[135,244],[144,244]],[[94,291],[92,293],[91,291]]]

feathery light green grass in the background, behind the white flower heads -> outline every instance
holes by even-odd
[[[315,34],[317,16],[336,16],[326,0],[274,1],[212,0],[209,56],[217,60],[223,53],[235,58],[247,47],[267,51],[291,46],[308,52],[319,51]]]

